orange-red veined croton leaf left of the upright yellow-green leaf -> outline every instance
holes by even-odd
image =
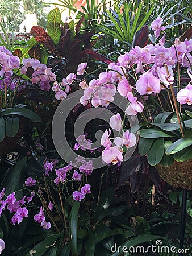
[[[37,42],[39,42],[40,44],[43,44],[45,48],[54,52],[53,40],[42,27],[33,26],[31,28],[31,35],[34,36]]]

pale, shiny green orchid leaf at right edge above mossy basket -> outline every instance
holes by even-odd
[[[183,150],[183,148],[189,147],[191,145],[192,145],[192,130],[187,130],[183,138],[178,139],[170,147],[167,148],[166,154],[167,155],[174,154],[180,150]]]

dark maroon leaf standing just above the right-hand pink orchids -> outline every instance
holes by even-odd
[[[149,35],[148,26],[145,25],[141,27],[140,30],[138,30],[135,33],[131,47],[135,47],[135,46],[140,46],[141,48],[145,47],[148,42],[148,35]]]

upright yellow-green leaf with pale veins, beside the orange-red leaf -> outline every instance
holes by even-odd
[[[47,15],[47,31],[55,44],[59,43],[61,36],[61,14],[59,8],[55,8]]]

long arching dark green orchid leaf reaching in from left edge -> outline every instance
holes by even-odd
[[[26,108],[9,108],[0,112],[0,117],[5,117],[6,115],[22,115],[29,118],[32,122],[41,122],[39,115]]]

